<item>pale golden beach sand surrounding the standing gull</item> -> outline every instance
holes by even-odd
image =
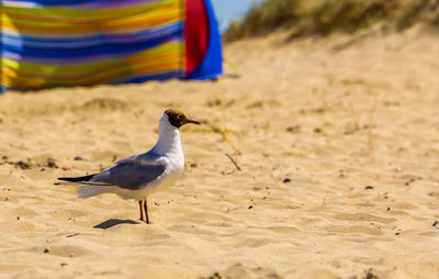
[[[438,278],[439,37],[282,40],[227,45],[239,78],[0,97],[0,277]],[[151,225],[54,185],[149,149],[167,108],[204,124]]]

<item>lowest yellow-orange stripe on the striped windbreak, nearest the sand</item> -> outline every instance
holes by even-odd
[[[3,59],[2,83],[7,87],[22,87],[23,85],[29,86],[30,83],[36,87],[83,86],[98,82],[111,82],[114,79],[130,76],[130,74],[148,75],[179,69],[183,70],[181,65],[184,54],[181,53],[181,44],[182,43],[168,43],[154,49],[138,53],[128,59],[112,59],[80,66],[42,67],[42,65]],[[56,72],[58,75],[72,75],[92,71],[93,75],[80,75],[78,78],[70,79],[55,77],[42,78],[37,76],[38,74],[49,75]],[[20,75],[19,72],[22,74]]]

